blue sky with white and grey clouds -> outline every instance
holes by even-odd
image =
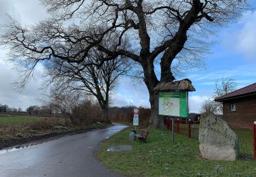
[[[251,0],[256,8],[256,1]],[[0,25],[7,21],[10,14],[23,25],[33,25],[46,16],[46,10],[37,0],[0,0]],[[243,14],[238,22],[218,31],[216,44],[205,56],[205,69],[186,71],[177,78],[189,78],[196,91],[189,93],[190,112],[199,112],[205,99],[212,96],[214,83],[223,76],[233,78],[238,88],[256,82],[256,10]],[[0,31],[1,33],[1,31]],[[46,91],[40,89],[44,82],[44,67],[38,65],[33,79],[23,90],[12,86],[19,78],[19,73],[8,59],[4,48],[0,48],[0,104],[25,110],[31,105],[40,105]],[[119,80],[119,86],[112,95],[113,106],[144,106],[150,108],[149,94],[145,84],[132,84],[129,78]]]

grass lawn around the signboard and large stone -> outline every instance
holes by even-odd
[[[210,161],[197,157],[199,142],[164,129],[150,129],[147,143],[128,141],[129,131],[106,140],[98,158],[114,172],[129,176],[255,176],[255,161]],[[109,146],[132,145],[126,152],[106,152]]]

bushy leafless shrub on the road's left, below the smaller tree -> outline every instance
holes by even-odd
[[[40,99],[44,106],[51,105],[55,115],[61,115],[66,120],[71,120],[74,125],[91,124],[96,121],[104,121],[101,118],[100,106],[81,92],[70,92],[53,89],[45,99]]]

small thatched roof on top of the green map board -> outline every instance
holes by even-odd
[[[173,82],[159,82],[154,91],[195,91],[195,88],[189,79],[184,79]]]

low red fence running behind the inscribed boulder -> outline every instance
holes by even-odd
[[[175,120],[175,133],[188,136],[188,138],[199,138],[199,123],[190,120]],[[167,129],[172,130],[172,121],[167,119]],[[229,127],[236,132],[238,136],[238,145],[240,155],[250,157],[256,161],[256,122],[254,125],[229,123]]]

